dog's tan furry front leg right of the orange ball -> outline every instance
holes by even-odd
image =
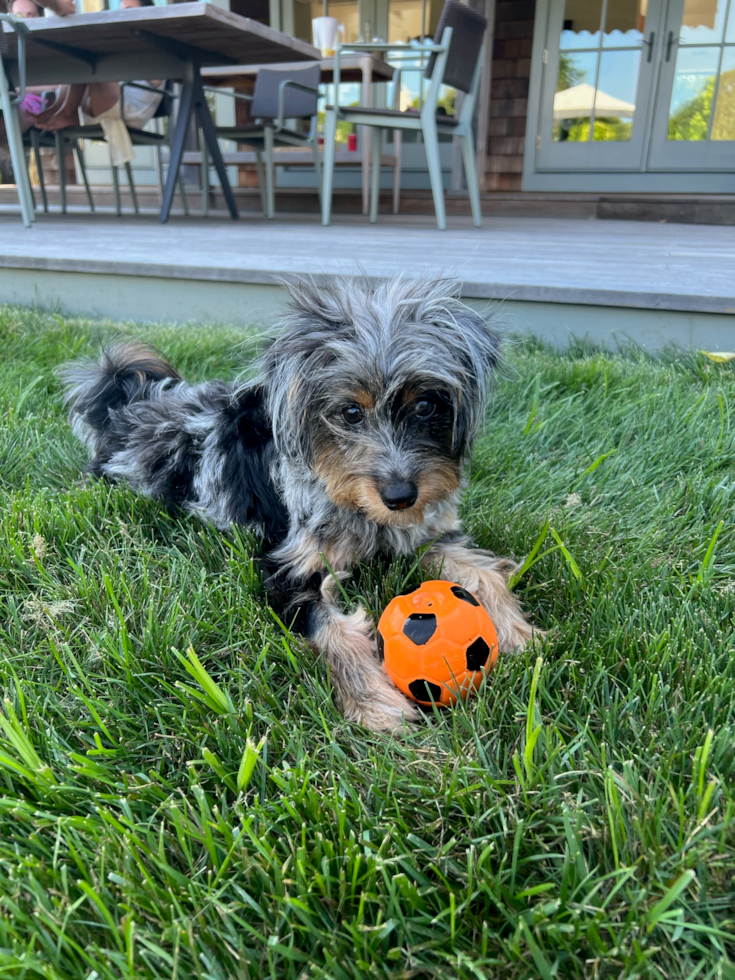
[[[534,630],[508,588],[508,577],[517,567],[515,562],[469,545],[467,538],[439,541],[424,555],[423,565],[439,566],[442,579],[456,582],[480,600],[497,630],[501,653],[523,649],[534,633],[543,634]]]

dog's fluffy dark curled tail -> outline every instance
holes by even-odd
[[[181,380],[157,351],[135,341],[112,344],[99,361],[74,361],[59,374],[72,428],[93,451],[111,412],[145,398],[153,384]]]

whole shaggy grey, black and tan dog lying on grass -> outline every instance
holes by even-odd
[[[262,540],[269,601],[326,659],[345,716],[400,728],[416,707],[379,662],[338,579],[414,552],[490,614],[501,652],[533,628],[508,589],[515,564],[472,546],[458,509],[500,341],[446,279],[309,281],[248,382],[187,384],[138,343],[63,371],[89,472]]]

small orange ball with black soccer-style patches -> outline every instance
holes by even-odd
[[[424,582],[396,596],[378,623],[388,676],[419,704],[467,698],[498,658],[498,634],[477,599],[453,582]]]

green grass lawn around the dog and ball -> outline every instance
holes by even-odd
[[[246,535],[82,478],[54,368],[120,331],[242,366],[234,331],[0,310],[0,976],[735,977],[731,367],[508,351],[465,520],[518,560],[549,525],[549,635],[386,737]]]

